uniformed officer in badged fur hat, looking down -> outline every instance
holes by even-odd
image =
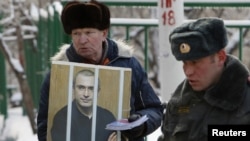
[[[250,127],[249,71],[226,54],[223,20],[210,17],[183,24],[169,40],[173,55],[183,62],[186,79],[167,104],[159,141],[207,141],[209,125]]]

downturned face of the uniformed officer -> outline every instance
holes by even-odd
[[[183,61],[183,70],[191,87],[195,91],[202,91],[217,83],[223,65],[224,60],[214,54],[197,60]]]

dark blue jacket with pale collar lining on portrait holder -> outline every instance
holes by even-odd
[[[146,136],[155,131],[160,125],[163,115],[163,108],[158,96],[149,84],[147,73],[144,71],[140,63],[132,56],[131,47],[121,41],[112,41],[107,39],[104,46],[104,59],[108,59],[108,66],[125,67],[132,69],[132,86],[130,113],[138,113],[147,115]],[[52,58],[52,60],[82,62],[81,58],[76,54],[72,45],[63,45],[61,50]],[[39,102],[39,111],[37,118],[38,139],[46,141],[47,136],[47,119],[48,119],[48,99],[50,86],[50,73],[46,76],[42,88]],[[143,138],[134,141],[142,141]]]

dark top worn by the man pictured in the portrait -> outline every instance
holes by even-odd
[[[66,141],[67,108],[63,107],[57,112],[51,128],[52,141]],[[114,115],[102,107],[97,106],[95,141],[107,141],[113,132],[106,130],[106,124],[115,121]],[[71,111],[71,141],[91,141],[92,118],[83,115],[76,106],[76,101],[72,102]]]

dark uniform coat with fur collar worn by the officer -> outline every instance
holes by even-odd
[[[219,82],[195,92],[184,80],[171,97],[159,141],[207,141],[208,125],[250,125],[248,70],[228,56]]]

